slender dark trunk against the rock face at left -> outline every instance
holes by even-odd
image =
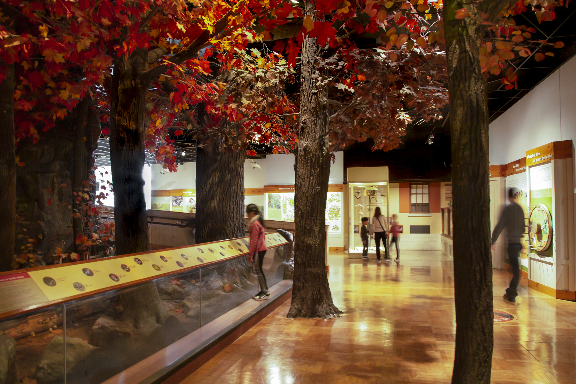
[[[82,212],[82,205],[84,204],[84,185],[82,182],[86,180],[86,160],[84,151],[84,128],[86,126],[86,114],[88,114],[88,100],[83,99],[78,103],[76,111],[76,125],[74,128],[74,155],[73,155],[73,175],[72,175],[72,189],[74,191],[72,206],[74,213],[78,215],[72,216],[72,227],[74,231],[74,252],[81,255],[80,249],[82,243],[77,244],[76,239],[84,236],[84,212]]]

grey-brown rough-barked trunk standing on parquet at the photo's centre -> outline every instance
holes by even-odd
[[[325,210],[330,174],[328,103],[312,75],[319,47],[316,38],[302,43],[300,133],[294,170],[294,273],[289,318],[336,317],[325,267]]]

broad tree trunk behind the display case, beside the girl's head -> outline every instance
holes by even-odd
[[[244,236],[244,153],[196,150],[196,243]]]

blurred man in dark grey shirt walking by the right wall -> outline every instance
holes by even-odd
[[[520,239],[524,235],[526,225],[524,220],[524,209],[514,202],[514,196],[517,192],[518,189],[516,188],[510,188],[508,190],[508,201],[510,201],[510,204],[502,211],[500,220],[492,232],[492,249],[496,249],[494,243],[498,240],[498,236],[500,236],[502,230],[506,228],[507,232],[508,258],[510,259],[512,273],[514,274],[510,281],[510,287],[506,289],[506,293],[504,293],[504,299],[509,302],[516,302],[516,296],[518,296],[516,290],[518,287],[518,280],[520,280],[520,265],[518,263],[518,257],[522,250]]]

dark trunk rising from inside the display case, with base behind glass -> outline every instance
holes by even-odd
[[[146,201],[142,169],[145,162],[144,118],[149,81],[141,73],[146,51],[135,50],[114,63],[110,114],[110,157],[114,188],[116,254],[149,250]],[[138,332],[150,333],[169,313],[154,283],[123,293],[123,317]]]

